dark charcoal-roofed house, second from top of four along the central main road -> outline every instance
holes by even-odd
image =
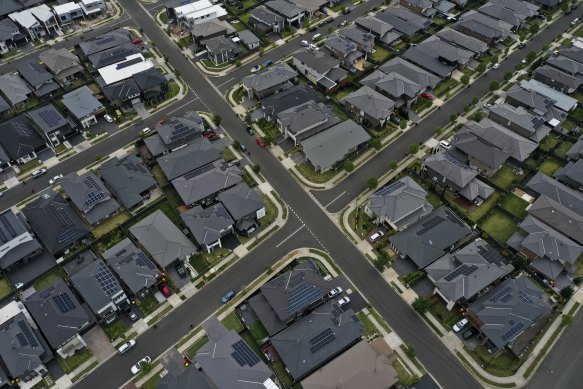
[[[319,103],[322,98],[311,86],[306,84],[294,85],[261,100],[263,115],[269,121],[275,121],[277,115],[290,108],[300,106],[308,101]]]

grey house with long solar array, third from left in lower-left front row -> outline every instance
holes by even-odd
[[[101,259],[83,260],[85,266],[71,274],[71,282],[99,322],[111,324],[119,310],[131,309],[117,278]],[[91,255],[90,254],[90,255]]]

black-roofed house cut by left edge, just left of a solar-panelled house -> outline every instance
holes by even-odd
[[[35,159],[38,152],[47,148],[46,142],[26,119],[25,114],[0,123],[0,145],[7,162],[18,164]]]

